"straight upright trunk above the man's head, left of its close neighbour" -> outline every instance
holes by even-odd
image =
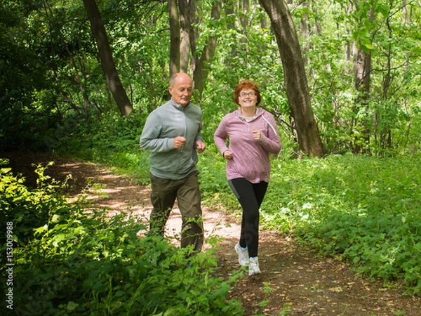
[[[170,77],[180,72],[180,23],[177,0],[168,0],[170,18]]]

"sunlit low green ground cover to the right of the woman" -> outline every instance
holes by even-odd
[[[276,161],[263,226],[292,233],[385,282],[421,290],[420,155]]]

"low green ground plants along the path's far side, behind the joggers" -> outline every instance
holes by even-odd
[[[62,138],[58,152],[108,164],[148,184],[149,154],[138,147],[142,116],[103,115],[92,123],[90,129],[81,124]],[[378,159],[345,154],[295,161],[288,159],[286,145],[272,159],[262,228],[300,237],[370,277],[403,279],[408,293],[418,293],[420,155]],[[225,160],[213,143],[199,155],[198,167],[203,203],[240,213],[225,178]]]

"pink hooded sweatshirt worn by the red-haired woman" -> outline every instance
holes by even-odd
[[[253,129],[262,133],[261,140],[253,138]],[[269,153],[278,154],[281,150],[272,114],[258,107],[255,117],[250,119],[241,117],[241,110],[235,110],[225,115],[213,139],[222,155],[226,150],[232,152],[232,159],[227,160],[227,180],[246,178],[251,183],[269,182]]]

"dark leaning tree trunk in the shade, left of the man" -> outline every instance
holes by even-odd
[[[86,13],[88,13],[88,18],[91,22],[93,36],[95,37],[100,53],[102,70],[104,71],[109,89],[112,92],[117,107],[119,107],[121,115],[128,117],[133,111],[133,107],[123,88],[123,84],[121,84],[119,73],[116,70],[111,47],[109,46],[107,38],[107,32],[105,32],[104,23],[102,23],[98,6],[95,0],[83,0],[83,5],[85,6]]]

